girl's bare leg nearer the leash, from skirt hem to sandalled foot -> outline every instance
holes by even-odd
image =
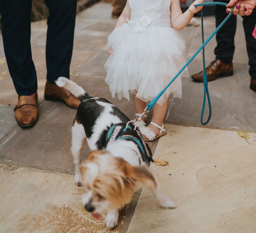
[[[153,107],[153,117],[151,121],[162,126],[167,111],[167,105],[168,101],[166,101],[163,105],[155,104]],[[147,127],[150,128],[156,135],[160,133],[160,129],[152,124],[149,124]],[[144,138],[146,137],[144,136]]]

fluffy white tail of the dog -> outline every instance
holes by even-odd
[[[59,87],[64,87],[65,89],[69,90],[74,96],[76,96],[80,101],[86,100],[91,98],[88,93],[85,92],[85,90],[78,86],[75,82],[65,78],[65,77],[59,77],[55,83]]]

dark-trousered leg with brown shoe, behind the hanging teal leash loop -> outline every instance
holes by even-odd
[[[217,0],[214,0],[216,2]],[[216,27],[227,17],[224,6],[216,6],[215,20]],[[207,80],[212,81],[218,77],[233,75],[233,55],[235,51],[234,37],[236,33],[236,16],[231,15],[229,20],[221,27],[216,34],[217,46],[214,50],[216,59],[206,68]],[[203,82],[203,74],[200,71],[191,76],[198,82]]]

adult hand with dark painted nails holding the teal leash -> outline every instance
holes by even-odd
[[[230,2],[226,5],[227,13],[231,12],[229,7],[233,7],[234,15],[250,15],[256,6],[256,0],[230,0]]]

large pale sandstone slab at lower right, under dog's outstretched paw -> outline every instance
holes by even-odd
[[[155,171],[178,207],[160,208],[142,189],[127,232],[255,232],[256,133],[249,144],[236,131],[165,128],[154,158],[169,164]]]

